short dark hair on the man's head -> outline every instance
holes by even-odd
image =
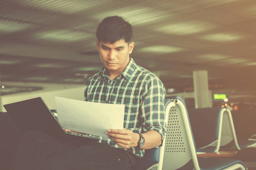
[[[96,37],[98,41],[110,44],[121,39],[130,43],[133,39],[133,27],[120,16],[109,16],[98,25]]]

